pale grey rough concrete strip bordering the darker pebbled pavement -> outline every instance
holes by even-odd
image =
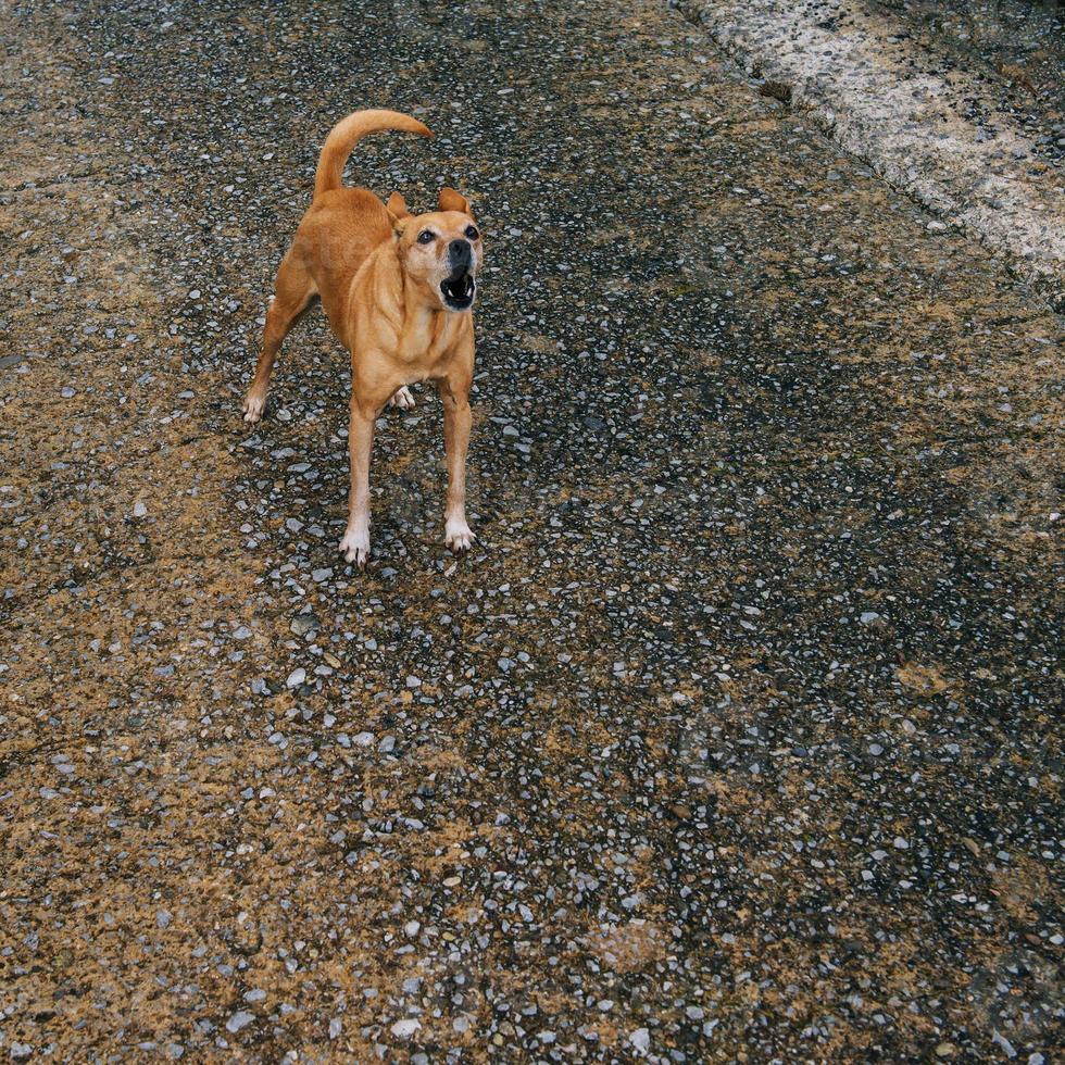
[[[1019,116],[974,115],[988,82],[917,43],[894,13],[859,0],[684,0],[692,21],[756,77],[790,87],[849,151],[977,235],[1065,311],[1065,175]],[[1051,16],[1052,17],[1052,16]],[[934,223],[935,225],[935,223]]]

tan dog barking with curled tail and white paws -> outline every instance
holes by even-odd
[[[444,540],[461,552],[474,539],[466,524],[466,448],[480,234],[454,189],[440,192],[436,211],[412,215],[399,192],[386,206],[368,189],[341,186],[352,148],[378,129],[433,136],[398,111],[356,111],[333,128],[318,160],[314,200],[277,271],[263,351],[243,408],[245,421],[262,417],[281,341],[321,299],[333,331],[351,352],[351,492],[340,550],[360,568],[369,555],[374,422],[386,403],[414,405],[406,388],[413,381],[435,381],[443,402]]]

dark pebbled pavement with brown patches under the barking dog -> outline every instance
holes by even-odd
[[[0,1052],[1054,1058],[1061,318],[665,4],[0,39]],[[239,401],[361,105],[489,266],[359,574],[320,313]]]

